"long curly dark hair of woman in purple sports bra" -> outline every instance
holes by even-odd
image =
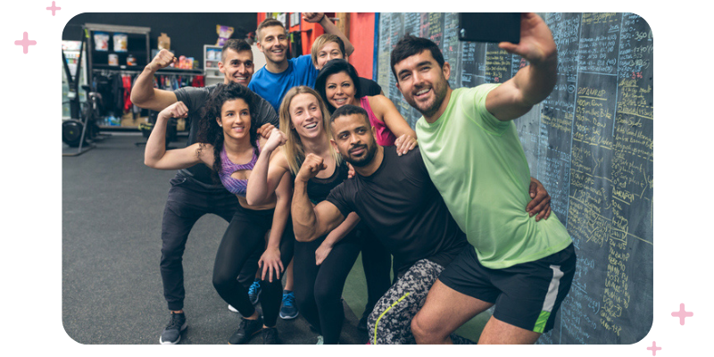
[[[198,122],[197,142],[198,149],[196,155],[200,155],[206,144],[213,145],[213,180],[220,182],[218,173],[222,169],[220,160],[220,151],[223,150],[223,128],[218,125],[216,119],[220,118],[220,111],[223,104],[236,99],[243,99],[248,104],[248,110],[251,114],[251,129],[250,134],[251,145],[258,148],[258,118],[256,111],[255,95],[247,87],[230,82],[228,84],[219,84],[213,89],[208,101],[203,105],[203,115]]]

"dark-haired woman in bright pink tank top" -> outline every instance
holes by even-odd
[[[398,153],[406,153],[417,145],[417,133],[389,98],[384,95],[357,96],[360,80],[350,62],[341,59],[327,62],[315,80],[315,90],[329,112],[335,112],[345,104],[357,105],[367,111],[369,122],[376,129],[378,145],[396,145]]]

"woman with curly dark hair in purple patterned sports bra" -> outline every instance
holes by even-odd
[[[293,187],[289,178],[280,180],[262,204],[251,205],[245,199],[248,178],[266,141],[259,136],[256,120],[251,116],[255,112],[253,98],[247,87],[236,83],[220,85],[205,105],[198,142],[167,151],[167,122],[171,118],[185,118],[188,113],[182,102],[170,105],[159,113],[144,154],[145,164],[154,169],[179,170],[203,163],[238,197],[240,207],[220,241],[213,266],[213,286],[242,315],[236,333],[228,339],[231,345],[245,344],[259,332],[263,343],[278,343],[275,325],[282,298],[280,273],[292,259],[295,241],[289,220]],[[267,136],[270,132],[266,131]],[[264,237],[269,230],[266,244]],[[256,249],[263,251],[259,261],[262,316],[250,302],[247,289],[237,282],[238,273]]]

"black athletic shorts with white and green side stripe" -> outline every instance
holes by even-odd
[[[439,280],[461,294],[494,303],[494,318],[538,333],[548,332],[575,275],[573,245],[535,262],[488,269],[465,249]]]

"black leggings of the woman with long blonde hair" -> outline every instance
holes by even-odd
[[[323,336],[324,344],[335,345],[345,320],[342,290],[360,253],[361,242],[353,230],[333,246],[322,264],[315,265],[315,251],[325,237],[295,242],[295,301],[305,320]]]

